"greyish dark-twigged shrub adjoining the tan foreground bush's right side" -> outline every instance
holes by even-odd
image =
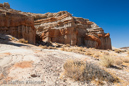
[[[101,69],[98,65],[86,62],[84,72],[85,80],[99,79],[109,82],[117,82],[118,78],[105,69]]]

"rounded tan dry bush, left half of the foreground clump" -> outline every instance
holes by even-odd
[[[82,80],[86,64],[85,62],[79,60],[68,60],[63,65],[63,68],[66,76],[74,80]]]

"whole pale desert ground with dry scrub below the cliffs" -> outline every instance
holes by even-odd
[[[35,46],[20,43],[16,38],[9,35],[0,36],[1,86],[129,85],[128,50],[117,48],[100,50],[57,43],[53,43],[53,45],[56,47]],[[109,59],[105,60],[102,57]],[[69,68],[70,65],[64,65],[68,62],[69,64],[70,62],[74,63],[74,61],[86,62],[86,68],[89,65],[89,69],[87,69],[89,72],[85,72],[89,75],[87,79],[84,79],[86,76],[78,76],[77,74],[77,77],[74,78],[73,72],[80,73],[78,71],[82,70],[77,69],[75,71]],[[95,75],[96,73],[93,71],[100,74]],[[92,78],[93,75],[96,76],[94,79]],[[79,79],[81,76],[83,77],[82,80]]]

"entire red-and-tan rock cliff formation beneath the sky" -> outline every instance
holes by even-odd
[[[73,17],[67,11],[34,14],[10,9],[0,4],[0,33],[37,41],[112,49],[109,33],[88,19]],[[36,31],[35,31],[36,29]],[[36,34],[35,34],[36,33]]]

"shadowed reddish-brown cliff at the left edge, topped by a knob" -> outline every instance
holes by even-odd
[[[24,38],[35,44],[34,19],[19,11],[10,9],[8,3],[0,4],[0,33]]]

